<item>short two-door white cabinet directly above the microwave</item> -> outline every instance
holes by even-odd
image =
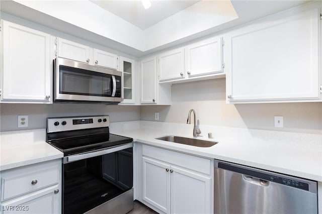
[[[57,38],[58,57],[72,59],[90,65],[118,69],[118,56],[62,38]]]

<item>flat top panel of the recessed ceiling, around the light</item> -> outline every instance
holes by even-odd
[[[151,7],[144,9],[141,1],[102,1],[92,3],[145,30],[156,23],[196,4],[200,1],[152,1]]]

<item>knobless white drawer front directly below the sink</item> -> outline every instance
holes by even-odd
[[[177,165],[196,172],[211,175],[211,160],[207,158],[201,158],[167,149],[160,149],[148,145],[142,145],[142,155],[170,163],[171,165]]]

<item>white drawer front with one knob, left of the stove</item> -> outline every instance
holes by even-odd
[[[1,172],[1,201],[58,184],[61,160],[9,169]]]

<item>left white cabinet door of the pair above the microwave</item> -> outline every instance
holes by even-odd
[[[58,57],[93,65],[93,49],[86,45],[58,38]]]

